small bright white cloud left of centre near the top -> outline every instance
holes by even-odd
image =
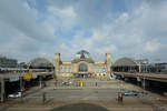
[[[62,32],[69,32],[76,26],[77,13],[71,6],[63,9],[51,6],[48,7],[48,12],[50,17],[47,20],[55,23]]]

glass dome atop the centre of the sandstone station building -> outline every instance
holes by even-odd
[[[81,50],[81,51],[77,52],[76,58],[77,59],[91,59],[90,53],[86,50]]]

